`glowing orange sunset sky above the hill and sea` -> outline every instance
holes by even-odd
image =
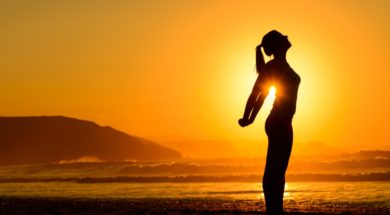
[[[237,125],[255,47],[289,36],[295,141],[390,146],[390,1],[2,1],[0,115],[65,115],[133,135],[266,140]],[[315,2],[315,3],[314,3]]]

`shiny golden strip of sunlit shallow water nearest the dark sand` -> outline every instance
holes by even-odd
[[[1,196],[69,198],[263,199],[261,183],[0,183]],[[390,206],[390,182],[293,182],[290,203],[366,203]]]

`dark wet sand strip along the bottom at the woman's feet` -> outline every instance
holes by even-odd
[[[264,202],[229,199],[79,199],[1,197],[0,214],[264,214]],[[286,208],[286,214],[389,214],[390,207],[329,205]]]

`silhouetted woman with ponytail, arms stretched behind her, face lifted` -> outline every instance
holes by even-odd
[[[273,59],[265,64],[261,47]],[[271,86],[276,88],[276,98],[266,123],[268,136],[267,162],[263,176],[263,192],[267,214],[283,214],[285,173],[290,159],[298,87],[298,74],[286,60],[291,47],[287,36],[278,31],[267,33],[256,47],[256,70],[258,78],[246,103],[244,116],[238,122],[242,127],[250,125],[256,118]]]

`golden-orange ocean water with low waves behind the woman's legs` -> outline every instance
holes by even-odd
[[[192,172],[183,174],[183,171],[189,168],[188,166],[192,166]],[[221,168],[221,165],[210,167],[209,164],[202,164],[195,165],[196,168],[193,166],[192,163],[0,166],[0,204],[8,204],[12,209],[12,205],[16,203],[7,203],[8,199],[82,199],[83,201],[103,199],[104,201],[142,201],[142,204],[158,201],[159,205],[162,204],[161,202],[177,200],[189,201],[185,207],[183,206],[184,208],[210,209],[210,207],[225,205],[234,209],[237,205],[241,205],[243,211],[264,209],[261,175],[247,170],[239,172],[238,169],[226,166],[222,166],[224,173],[206,174],[206,170],[215,171]],[[231,168],[234,169],[233,172]],[[257,167],[255,169],[257,171]],[[390,213],[389,174],[389,171],[383,170],[374,173],[288,174],[284,206],[289,211],[298,212],[388,214]],[[312,177],[313,175],[316,177]],[[310,180],[301,180],[305,177]],[[194,205],[195,202],[202,202],[202,205],[206,206]],[[214,202],[214,206],[208,207],[210,202]],[[161,207],[178,207],[172,205],[172,202],[166,204],[168,206]],[[29,211],[30,206],[26,207],[28,209],[25,211]]]

